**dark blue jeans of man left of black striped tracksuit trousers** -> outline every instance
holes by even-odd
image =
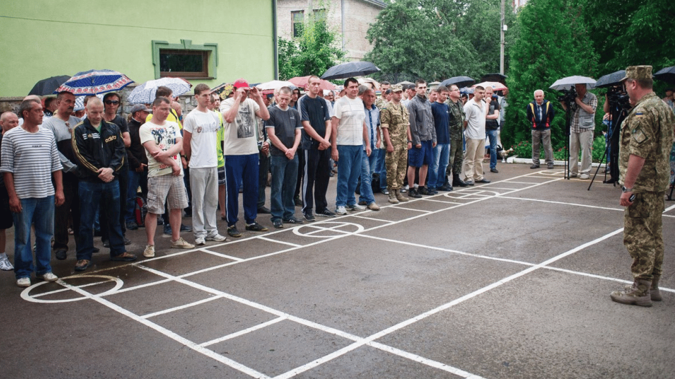
[[[272,170],[272,188],[269,196],[272,221],[279,218],[288,220],[295,214],[296,181],[298,181],[298,154],[293,159],[285,155],[273,155],[270,158]]]

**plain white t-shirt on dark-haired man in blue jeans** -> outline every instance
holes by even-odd
[[[358,97],[343,96],[335,102],[333,115],[340,119],[335,142],[338,145],[362,145],[363,121],[366,118],[363,101]]]

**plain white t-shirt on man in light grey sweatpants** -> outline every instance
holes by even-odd
[[[190,140],[190,169],[218,167],[218,152],[216,149],[218,115],[207,110],[206,112],[192,109],[183,120],[183,130],[192,134]]]

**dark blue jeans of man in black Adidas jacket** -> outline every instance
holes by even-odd
[[[110,227],[110,256],[119,256],[126,252],[124,237],[119,225],[119,182],[117,179],[109,183],[92,183],[80,181],[80,234],[78,235],[78,260],[91,260],[94,252],[94,219],[101,204],[103,218]]]

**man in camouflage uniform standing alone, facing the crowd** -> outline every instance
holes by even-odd
[[[610,295],[618,303],[651,307],[660,301],[664,262],[661,212],[670,168],[675,115],[652,91],[651,66],[626,67],[624,86],[634,104],[621,124],[619,182],[624,212],[624,245],[633,258],[634,283]],[[634,196],[634,198],[632,198]]]

